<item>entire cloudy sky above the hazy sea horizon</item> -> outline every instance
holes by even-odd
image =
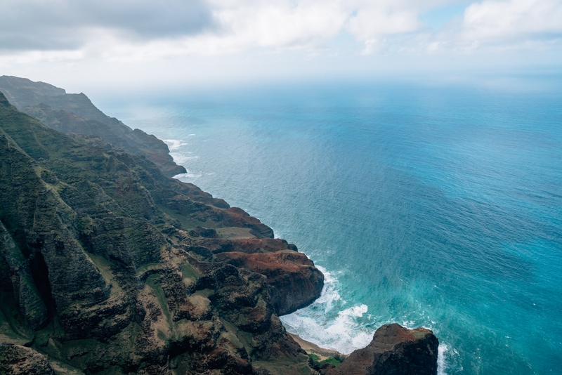
[[[0,75],[70,92],[561,72],[562,0],[1,4]]]

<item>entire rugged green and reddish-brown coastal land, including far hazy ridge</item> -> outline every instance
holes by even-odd
[[[84,94],[0,77],[0,374],[436,374],[397,324],[318,367],[279,315],[322,272],[183,171]]]

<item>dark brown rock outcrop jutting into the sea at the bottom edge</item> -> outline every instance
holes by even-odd
[[[435,375],[439,342],[429,329],[386,324],[371,343],[348,355],[325,375]]]

